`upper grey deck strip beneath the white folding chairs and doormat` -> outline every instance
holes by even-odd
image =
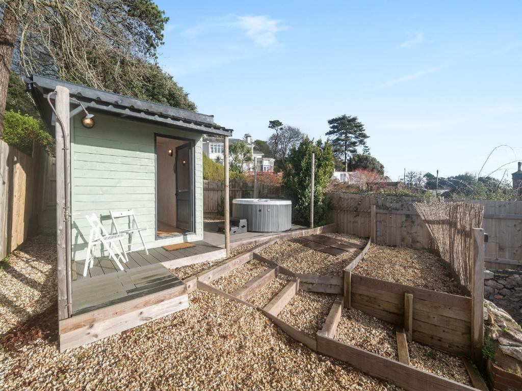
[[[209,259],[218,259],[224,256],[223,249],[210,245],[203,240],[193,242],[196,247],[167,251],[161,247],[149,249],[149,254],[145,250],[133,251],[128,253],[128,262],[123,263],[124,272],[149,265],[163,263],[166,267],[177,267],[197,263],[198,261]],[[73,283],[82,279],[98,277],[111,273],[122,273],[116,263],[108,256],[97,258],[92,267],[88,268],[87,276],[84,277],[85,260],[73,261]],[[74,278],[76,277],[76,278]]]

